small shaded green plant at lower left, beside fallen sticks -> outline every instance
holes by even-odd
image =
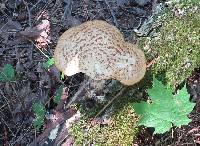
[[[35,120],[33,121],[33,126],[35,129],[39,130],[42,125],[44,125],[44,116],[45,116],[45,107],[41,103],[33,104],[33,112],[36,115]]]

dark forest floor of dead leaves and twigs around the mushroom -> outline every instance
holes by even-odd
[[[53,56],[57,40],[65,30],[85,21],[101,19],[117,26],[126,40],[134,42],[133,29],[145,21],[156,3],[155,0],[0,1],[0,67],[9,63],[17,74],[17,80],[0,83],[0,145],[33,145],[34,141],[44,141],[48,131],[36,132],[32,127],[33,103],[44,103],[47,109],[55,107],[51,100],[61,82],[68,87],[68,96],[77,92],[83,81],[82,74],[61,81],[55,67],[48,70],[42,67],[43,62]],[[143,128],[133,145],[200,144],[199,69],[187,79],[187,85],[191,100],[197,103],[189,115],[192,122],[163,135],[153,136],[152,129]],[[57,109],[64,105],[66,99],[63,100]],[[74,109],[63,111],[59,113],[60,120],[74,113]],[[66,114],[68,116],[64,117]],[[44,129],[51,130],[49,127],[56,122],[47,121]]]

